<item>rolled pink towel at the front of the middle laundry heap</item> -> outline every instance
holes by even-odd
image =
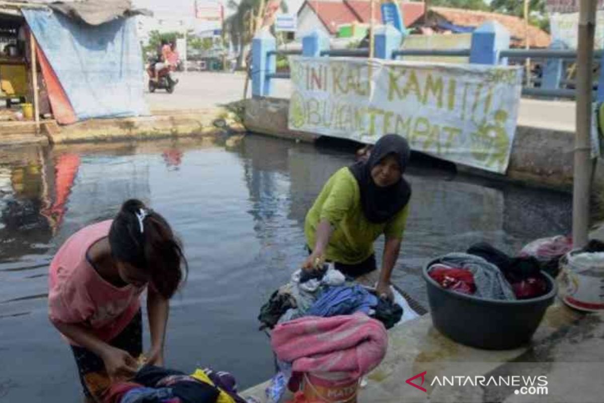
[[[388,334],[364,314],[305,317],[277,325],[271,345],[294,372],[344,372],[342,381],[354,381],[384,359]]]

